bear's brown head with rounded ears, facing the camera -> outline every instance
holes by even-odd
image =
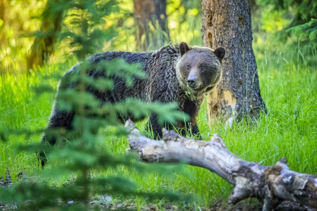
[[[187,43],[179,44],[181,57],[176,65],[177,79],[184,90],[195,93],[212,89],[222,75],[221,60],[225,49],[215,50],[207,47],[189,47]]]

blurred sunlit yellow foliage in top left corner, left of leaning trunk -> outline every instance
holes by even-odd
[[[3,1],[0,14],[0,73],[23,72],[34,38],[27,34],[41,26],[46,1]]]

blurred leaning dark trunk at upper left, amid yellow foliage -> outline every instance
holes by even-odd
[[[63,18],[63,10],[55,10],[55,2],[58,0],[49,0],[42,14],[43,21],[40,35],[37,35],[31,47],[31,53],[27,58],[27,70],[37,66],[42,66],[49,56],[54,52],[54,45],[57,35],[61,31],[61,23]]]

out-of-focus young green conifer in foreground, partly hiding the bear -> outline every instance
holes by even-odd
[[[65,27],[59,40],[69,39],[70,53],[74,54],[78,60],[84,59],[88,54],[95,51],[101,51],[103,43],[114,37],[113,28],[105,28],[107,22],[103,19],[114,12],[118,12],[115,1],[48,1],[44,12],[47,17],[56,11],[64,9],[63,24]],[[52,11],[53,10],[53,11]],[[45,36],[45,34],[36,34]],[[105,77],[91,78],[87,71],[95,68],[104,71]],[[130,195],[142,196],[149,200],[167,198],[170,201],[186,198],[173,191],[141,191],[128,177],[113,174],[112,176],[91,176],[92,171],[102,171],[109,168],[125,167],[129,171],[137,171],[140,174],[146,171],[153,171],[152,168],[143,167],[142,164],[135,161],[135,156],[122,155],[116,156],[110,152],[110,149],[100,150],[100,137],[98,131],[100,127],[109,130],[109,134],[103,137],[103,141],[112,142],[113,137],[126,136],[126,130],[121,124],[118,113],[129,114],[136,119],[149,116],[151,113],[158,115],[160,123],[169,121],[174,123],[176,119],[184,119],[184,114],[176,111],[176,103],[160,104],[141,102],[139,99],[128,98],[121,102],[101,103],[95,98],[93,93],[86,92],[86,87],[94,87],[98,91],[108,91],[113,89],[111,76],[123,78],[127,86],[131,86],[133,78],[144,78],[146,74],[140,72],[140,64],[128,65],[123,59],[116,59],[107,62],[100,62],[97,66],[92,66],[89,59],[84,60],[77,69],[71,74],[65,74],[60,87],[73,84],[70,89],[61,89],[55,96],[56,105],[62,111],[73,111],[76,113],[72,122],[73,129],[65,133],[65,128],[46,128],[35,130],[10,128],[7,122],[0,126],[1,140],[10,142],[12,136],[24,135],[26,139],[36,136],[43,131],[47,136],[55,134],[57,145],[50,146],[45,142],[38,143],[16,143],[16,153],[21,152],[45,152],[49,164],[45,171],[38,173],[39,176],[32,174],[35,178],[28,178],[27,181],[16,184],[10,188],[0,187],[0,200],[3,202],[18,203],[22,209],[39,208],[70,208],[77,207],[83,203],[87,207],[90,198],[93,195]],[[10,75],[10,73],[2,73]],[[30,76],[32,77],[32,76]],[[6,78],[6,76],[5,76]],[[1,86],[0,86],[1,87]],[[48,84],[36,84],[35,90],[53,91],[54,88]],[[142,109],[140,109],[142,108]],[[6,146],[2,144],[1,146]],[[9,145],[10,146],[10,145]],[[6,146],[8,147],[8,146]],[[6,148],[5,147],[5,148]],[[14,148],[14,146],[12,146]],[[11,149],[12,150],[12,149]],[[3,154],[3,160],[6,160],[6,154]],[[34,162],[34,161],[33,161]],[[2,178],[6,177],[7,163],[3,161],[5,168],[0,172]],[[35,161],[35,166],[41,169],[40,164]],[[10,167],[11,170],[12,166]],[[18,170],[21,171],[21,170]],[[155,171],[164,172],[160,167]],[[19,173],[18,173],[19,174]],[[17,174],[17,175],[18,175]],[[36,173],[35,173],[36,174]],[[17,176],[16,175],[16,176]],[[66,187],[55,187],[47,183],[48,178],[75,177],[71,179]],[[46,179],[45,179],[46,178]],[[16,178],[15,178],[16,180]],[[24,203],[28,200],[28,203]],[[61,203],[56,203],[62,200]],[[71,204],[65,204],[72,201]],[[73,203],[74,202],[74,203]]]

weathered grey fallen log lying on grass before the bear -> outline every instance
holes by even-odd
[[[142,136],[131,120],[126,121],[125,127],[129,150],[139,151],[141,160],[184,161],[206,168],[234,185],[230,203],[256,197],[263,202],[263,210],[271,210],[284,200],[317,208],[317,178],[289,170],[286,158],[273,166],[264,166],[230,152],[217,134],[210,141],[201,141],[163,129],[163,139],[157,141]]]

